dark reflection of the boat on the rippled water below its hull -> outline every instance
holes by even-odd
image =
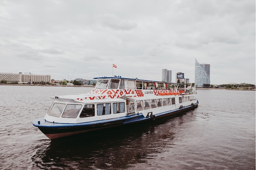
[[[106,128],[46,141],[48,144],[37,146],[37,153],[32,157],[34,166],[42,169],[127,169],[138,163],[148,164],[158,154],[175,147],[175,135],[185,122],[182,117],[186,113],[136,126]]]

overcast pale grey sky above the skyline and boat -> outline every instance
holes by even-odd
[[[0,72],[255,84],[255,0],[0,1]]]

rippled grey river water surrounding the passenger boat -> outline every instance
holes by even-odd
[[[198,90],[195,110],[51,141],[32,121],[64,89],[0,86],[0,169],[255,169],[255,91]]]

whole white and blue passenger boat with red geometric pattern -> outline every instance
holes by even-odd
[[[121,76],[98,77],[90,93],[54,96],[45,117],[33,121],[48,138],[56,139],[91,130],[121,126],[196,108],[196,88],[179,90],[168,83]],[[141,87],[136,87],[141,83]],[[149,86],[149,85],[154,86]],[[163,88],[158,88],[163,84]],[[167,88],[174,84],[173,89]]]

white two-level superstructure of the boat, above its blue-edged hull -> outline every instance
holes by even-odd
[[[196,102],[192,93],[180,93],[177,88],[167,90],[167,82],[128,79],[120,77],[100,77],[89,94],[51,97],[54,102],[44,119],[56,123],[83,123],[120,118],[142,113],[159,114]],[[136,89],[136,83],[145,88]],[[148,89],[149,83],[154,89]],[[157,89],[158,83],[165,89]],[[188,89],[190,91],[190,89]],[[179,92],[179,93],[178,93]]]

